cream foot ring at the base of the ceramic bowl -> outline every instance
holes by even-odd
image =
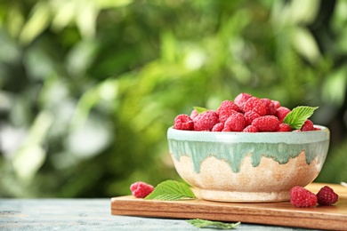
[[[236,192],[199,189],[202,199],[215,202],[270,203],[289,201],[289,191],[281,192]]]

